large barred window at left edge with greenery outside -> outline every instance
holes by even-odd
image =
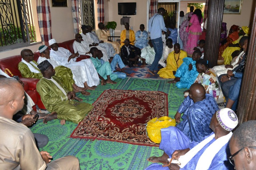
[[[0,50],[36,42],[30,0],[0,0]]]

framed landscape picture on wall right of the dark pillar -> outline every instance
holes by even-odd
[[[242,0],[225,0],[224,14],[241,14]]]

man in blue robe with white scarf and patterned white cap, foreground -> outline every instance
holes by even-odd
[[[206,136],[200,143],[190,142],[179,130],[175,134],[168,134],[168,132],[161,129],[162,141],[166,136],[173,135],[179,140],[179,143],[177,145],[162,146],[164,154],[160,157],[150,157],[148,161],[154,162],[154,164],[148,166],[146,170],[232,169],[233,166],[227,161],[227,154],[229,154],[228,146],[232,136],[231,131],[237,124],[238,119],[234,111],[229,108],[223,108],[213,115],[210,123],[213,133]],[[171,142],[173,143],[173,141]],[[160,143],[160,147],[161,145],[164,145],[164,143]],[[157,162],[169,164],[163,167]]]

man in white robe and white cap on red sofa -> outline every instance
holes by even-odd
[[[72,70],[76,85],[87,87],[94,90],[99,85],[98,73],[90,59],[84,59],[76,62],[79,53],[72,54],[69,50],[59,47],[55,39],[49,40],[50,57],[54,59],[59,66],[65,66]]]

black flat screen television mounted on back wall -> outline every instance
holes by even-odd
[[[118,3],[118,15],[136,15],[136,2]]]

